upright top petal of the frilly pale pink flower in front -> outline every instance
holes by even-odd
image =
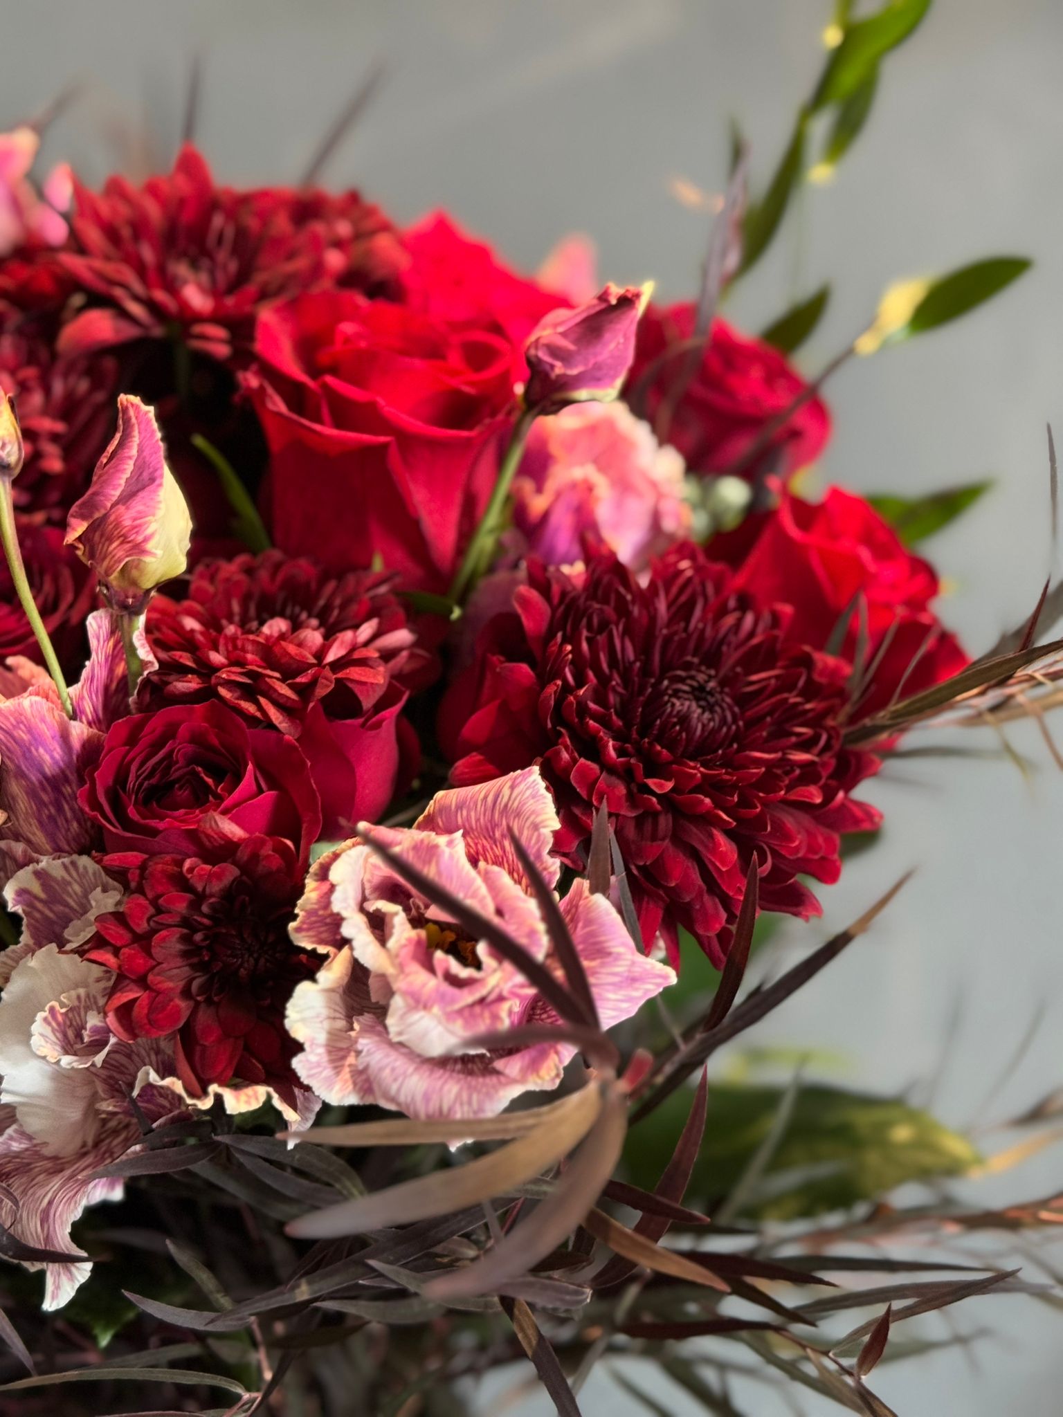
[[[420,832],[461,832],[472,862],[499,866],[530,887],[509,839],[513,832],[549,886],[560,874],[560,863],[551,854],[560,822],[539,768],[437,792],[414,826]]]

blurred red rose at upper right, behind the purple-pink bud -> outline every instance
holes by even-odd
[[[629,390],[641,388],[649,366],[669,346],[693,336],[694,316],[693,303],[646,310],[639,322]],[[682,371],[683,356],[676,354],[656,364],[649,378],[645,417],[655,427],[660,405]],[[682,452],[690,472],[729,470],[804,388],[805,381],[777,349],[714,320],[709,347],[662,436]],[[785,478],[814,462],[829,435],[826,404],[811,398],[775,432],[764,452],[741,468],[741,476],[753,479],[774,472]]]

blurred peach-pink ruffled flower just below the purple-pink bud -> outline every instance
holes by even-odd
[[[537,418],[513,480],[514,550],[583,560],[585,536],[636,574],[690,527],[683,459],[626,404],[571,404]]]

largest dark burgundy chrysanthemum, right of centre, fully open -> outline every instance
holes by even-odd
[[[646,585],[605,551],[573,575],[532,565],[480,639],[454,768],[466,784],[540,761],[573,866],[604,802],[646,941],[676,959],[683,927],[717,965],[754,857],[761,907],[808,917],[798,877],[833,881],[839,833],[879,820],[849,796],[877,767],[842,744],[849,666],[787,645],[788,611],[754,609],[730,575],[692,546]]]

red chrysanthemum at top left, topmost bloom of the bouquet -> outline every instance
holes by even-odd
[[[167,176],[101,193],[75,184],[71,237],[43,254],[89,307],[65,326],[68,350],[179,334],[228,360],[264,305],[303,290],[391,290],[404,264],[391,222],[356,191],[214,184],[186,145]]]

